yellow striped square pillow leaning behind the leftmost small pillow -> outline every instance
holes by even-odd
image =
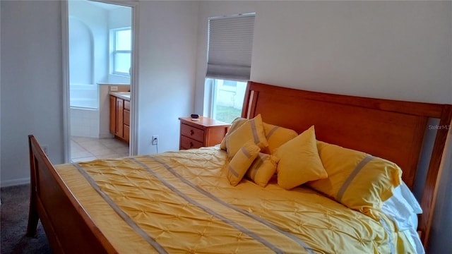
[[[227,155],[229,155],[230,158],[234,157],[235,153],[248,140],[253,140],[261,149],[268,145],[266,133],[263,131],[261,114],[255,116],[254,119],[249,119],[245,123],[242,123],[241,126],[227,136]]]

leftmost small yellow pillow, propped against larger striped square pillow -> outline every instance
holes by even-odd
[[[227,179],[232,186],[236,186],[242,180],[260,150],[253,140],[249,140],[234,155],[227,167]]]

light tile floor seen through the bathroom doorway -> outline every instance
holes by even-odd
[[[114,138],[71,136],[71,162],[129,156],[129,145]]]

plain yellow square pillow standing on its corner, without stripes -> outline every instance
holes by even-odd
[[[314,126],[276,149],[278,185],[290,190],[307,181],[328,176],[317,152]]]

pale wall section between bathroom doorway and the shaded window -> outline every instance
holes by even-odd
[[[138,154],[179,149],[179,116],[194,108],[198,3],[141,1]]]

